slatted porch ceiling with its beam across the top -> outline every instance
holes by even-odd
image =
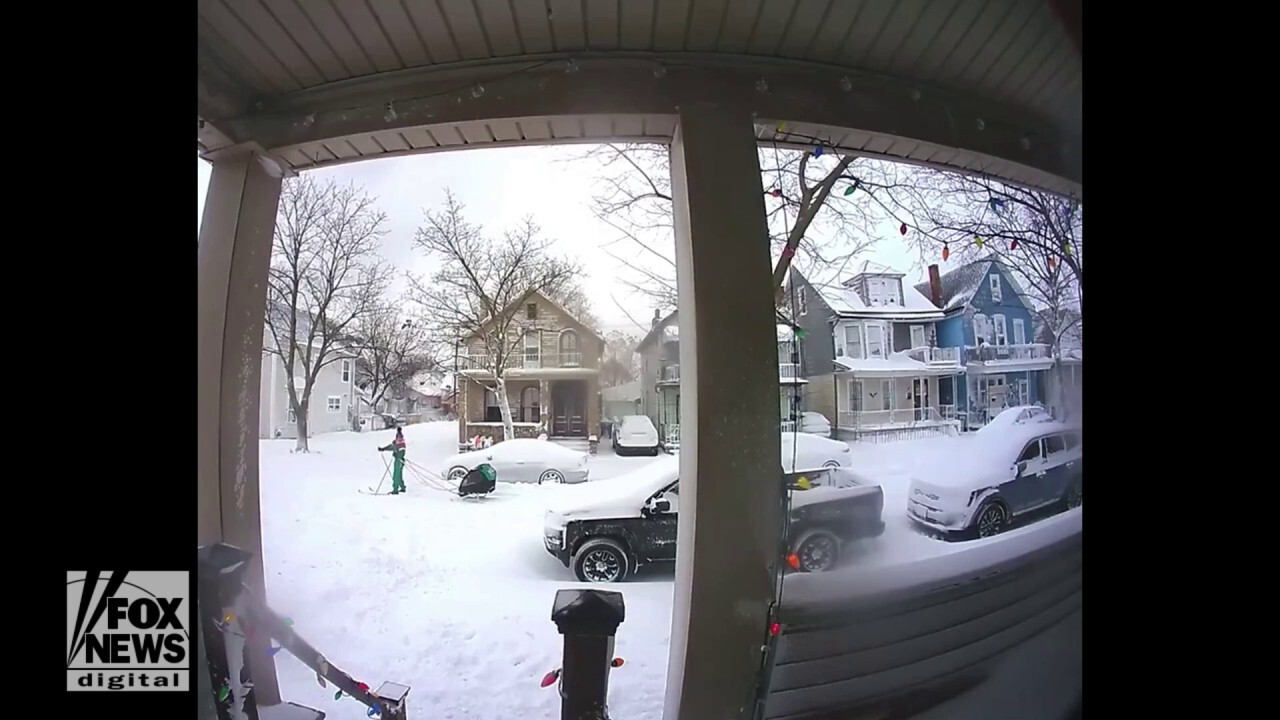
[[[197,142],[294,169],[666,142],[714,100],[765,141],[1078,193],[1073,32],[1044,0],[198,0]]]

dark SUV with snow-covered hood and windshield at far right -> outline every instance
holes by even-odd
[[[1011,410],[1021,413],[1005,413]],[[908,516],[943,537],[991,537],[1029,512],[1083,502],[1083,446],[1075,427],[1009,421],[955,442],[956,451],[943,461],[914,473],[908,493]]]

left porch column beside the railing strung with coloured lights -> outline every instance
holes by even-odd
[[[225,542],[251,553],[244,582],[262,593],[259,384],[266,270],[283,173],[243,146],[228,149],[212,164],[196,250],[197,543]],[[257,700],[279,703],[269,641],[250,642]]]

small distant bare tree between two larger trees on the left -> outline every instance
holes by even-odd
[[[356,329],[361,341],[356,384],[374,410],[384,398],[408,391],[413,375],[442,369],[428,347],[425,323],[399,307],[401,304],[379,302]]]

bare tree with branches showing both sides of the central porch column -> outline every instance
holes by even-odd
[[[780,140],[794,141],[780,132]],[[814,143],[820,147],[820,141]],[[632,277],[621,278],[660,310],[676,306],[675,228],[671,167],[666,147],[600,145],[586,158],[599,163],[599,190],[591,199],[596,218],[618,232],[605,251]],[[877,161],[836,152],[760,149],[762,187],[778,254],[773,269],[776,300],[792,261],[806,275],[833,279],[876,240],[887,213],[869,195],[884,190]],[[616,250],[616,247],[625,250]],[[832,275],[828,278],[827,275]]]

